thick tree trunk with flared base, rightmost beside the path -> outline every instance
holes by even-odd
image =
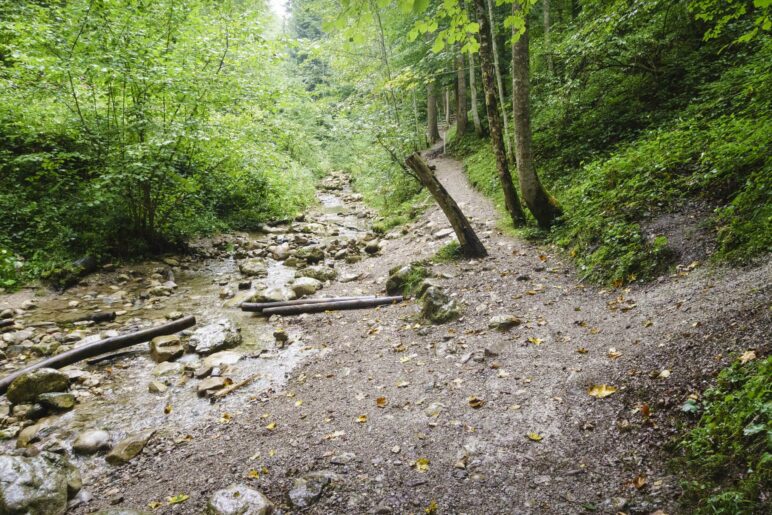
[[[515,0],[515,16],[522,14],[521,2]],[[531,106],[529,98],[528,30],[526,27],[512,45],[512,107],[515,115],[515,157],[520,189],[528,209],[539,227],[548,228],[562,215],[557,201],[550,196],[536,175],[531,143]]]

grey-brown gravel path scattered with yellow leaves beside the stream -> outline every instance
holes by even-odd
[[[272,320],[318,352],[281,387],[237,397],[221,423],[154,437],[87,481],[89,500],[73,512],[158,502],[200,513],[233,483],[293,512],[298,479],[321,488],[310,513],[680,512],[668,465],[690,420],[680,407],[740,354],[768,354],[770,263],[682,263],[628,289],[582,284],[560,255],[501,232],[460,163],[432,163],[490,253],[430,267],[460,319],[427,325],[410,300]],[[430,208],[348,266],[356,281],[324,292],[382,294],[389,269],[431,258],[447,227]],[[496,315],[522,323],[489,328]],[[617,390],[595,398],[596,385]],[[164,502],[181,493],[190,498]]]

